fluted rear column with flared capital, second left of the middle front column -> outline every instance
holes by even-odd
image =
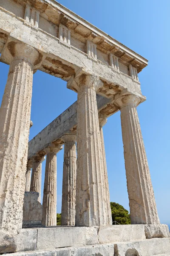
[[[42,203],[42,225],[57,225],[57,153],[62,146],[51,145],[44,149],[47,153],[45,165],[44,193]]]

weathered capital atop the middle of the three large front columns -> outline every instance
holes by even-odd
[[[83,68],[80,68],[67,83],[67,88],[74,90],[76,93],[78,93],[82,87],[93,88],[97,91],[102,86],[103,82],[99,79],[99,76],[88,73]]]

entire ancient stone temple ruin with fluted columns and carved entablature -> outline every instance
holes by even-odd
[[[0,53],[10,65],[0,108],[0,253],[170,255],[136,110],[145,100],[138,73],[147,60],[55,0],[0,0]],[[67,81],[77,102],[28,143],[37,70]],[[111,220],[102,127],[117,111],[131,225]],[[56,227],[62,148],[62,226]]]

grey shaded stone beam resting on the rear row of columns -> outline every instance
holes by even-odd
[[[97,95],[97,105],[99,111],[104,112],[105,115],[110,116],[115,113],[117,109],[109,104],[109,99]],[[108,105],[107,105],[108,104]],[[107,113],[108,111],[108,113]],[[77,102],[74,102],[68,109],[59,115],[53,122],[47,125],[39,134],[37,134],[28,143],[28,159],[37,153],[44,154],[44,148],[51,143],[64,144],[60,139],[68,131],[75,131],[77,126]]]

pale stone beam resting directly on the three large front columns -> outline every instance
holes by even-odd
[[[42,60],[40,70],[68,81],[80,68],[93,73],[104,82],[104,90],[100,90],[102,96],[111,98],[118,91],[125,88],[133,93],[141,94],[140,83],[125,73],[114,70],[104,62],[90,58],[88,54],[78,48],[65,44],[59,38],[50,35],[42,29],[26,23],[23,18],[16,17],[13,13],[0,7],[0,32],[3,33],[3,41],[6,37],[13,41],[22,41],[37,49],[46,58]],[[3,51],[6,44],[3,47]],[[2,48],[2,47],[1,47]],[[3,59],[3,51],[0,61]],[[105,86],[106,85],[106,86]]]

